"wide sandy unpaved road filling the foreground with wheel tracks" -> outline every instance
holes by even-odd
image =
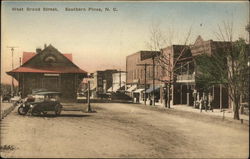
[[[249,127],[143,105],[94,104],[97,113],[20,116],[1,123],[2,157],[248,158]],[[183,114],[183,115],[182,115]]]

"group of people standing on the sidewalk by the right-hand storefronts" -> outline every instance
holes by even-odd
[[[211,110],[213,112],[213,96],[210,92],[208,94],[203,92],[202,95],[200,95],[197,90],[194,90],[193,98],[194,108],[199,108],[200,112],[202,112],[203,109],[205,109],[205,111]]]

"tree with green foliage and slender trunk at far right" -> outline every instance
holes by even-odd
[[[202,54],[195,58],[197,83],[206,88],[223,84],[229,89],[233,103],[234,119],[239,120],[240,97],[247,91],[249,47],[244,39],[221,43],[218,52]]]

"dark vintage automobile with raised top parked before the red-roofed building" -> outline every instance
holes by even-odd
[[[60,95],[60,92],[35,92],[23,101],[18,108],[18,113],[25,115],[30,112],[32,115],[45,115],[52,111],[55,115],[60,115],[62,111]]]

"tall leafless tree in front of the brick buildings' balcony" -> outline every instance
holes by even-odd
[[[189,28],[189,31],[187,33],[187,36],[184,40],[183,45],[180,46],[178,49],[178,53],[174,54],[174,52],[165,52],[163,49],[165,46],[173,47],[173,38],[174,38],[174,31],[171,29],[168,29],[168,34],[164,34],[163,31],[160,29],[159,23],[152,24],[150,28],[150,40],[147,43],[149,48],[152,51],[160,51],[159,56],[154,56],[153,60],[156,61],[156,65],[160,66],[162,70],[162,74],[160,77],[156,80],[159,80],[164,83],[164,87],[166,91],[164,91],[165,96],[165,107],[170,108],[171,103],[171,91],[173,90],[173,85],[175,83],[175,78],[177,76],[177,70],[180,69],[180,66],[178,65],[178,62],[181,58],[185,57],[185,54],[187,53],[187,50],[189,49],[189,46],[187,46],[189,37],[191,35],[191,27]],[[192,61],[189,61],[192,62]],[[187,63],[186,63],[187,64]],[[153,66],[154,67],[154,66]]]

